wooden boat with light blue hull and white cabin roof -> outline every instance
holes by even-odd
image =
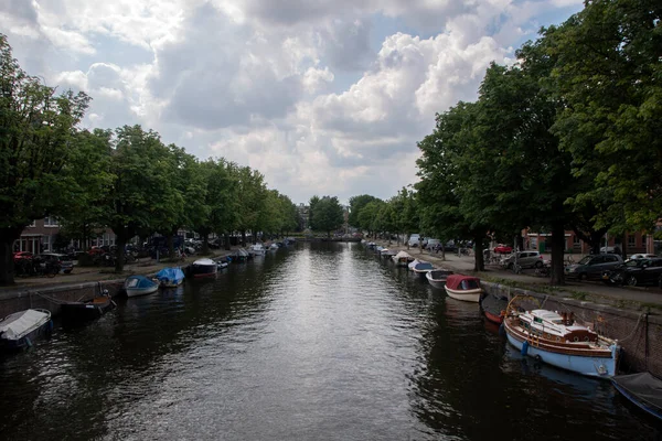
[[[575,323],[572,314],[543,309],[520,311],[514,306],[519,298],[509,303],[503,326],[508,341],[522,355],[590,377],[615,375],[618,342]]]

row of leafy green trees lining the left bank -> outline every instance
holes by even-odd
[[[140,126],[81,130],[89,97],[25,74],[0,35],[0,284],[13,283],[12,244],[33,219],[57,216],[85,240],[110,227],[117,271],[134,236],[285,233],[292,202],[264,176],[224,159],[199,161]],[[228,240],[226,238],[226,244]]]

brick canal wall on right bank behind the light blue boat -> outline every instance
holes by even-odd
[[[523,308],[543,308],[552,311],[572,312],[578,322],[608,338],[618,340],[621,372],[649,370],[662,377],[662,316],[649,312],[621,310],[606,304],[586,302],[555,295],[541,294],[500,283],[481,281],[488,294],[506,297],[531,295],[536,301],[523,300]]]

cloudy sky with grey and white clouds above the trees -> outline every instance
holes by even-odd
[[[472,101],[583,0],[3,0],[21,67],[93,101],[84,128],[141,125],[265,175],[296,204],[414,184],[435,115]]]

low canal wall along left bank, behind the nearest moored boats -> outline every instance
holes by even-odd
[[[105,280],[0,292],[0,318],[33,308],[42,308],[57,315],[63,302],[90,299],[104,290],[116,297],[121,292],[122,286],[124,280]]]

